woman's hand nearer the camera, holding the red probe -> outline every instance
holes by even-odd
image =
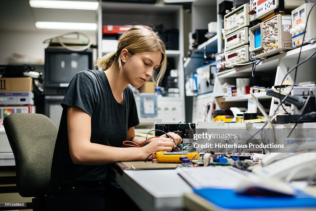
[[[161,151],[167,151],[170,152],[175,147],[175,144],[172,139],[170,138],[152,138],[150,143],[146,146],[142,147],[145,150],[145,154],[147,156],[153,152],[161,152]],[[146,156],[146,157],[147,157]]]

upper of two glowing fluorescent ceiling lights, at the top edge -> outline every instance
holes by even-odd
[[[86,9],[97,10],[99,2],[29,0],[30,6],[49,9]]]

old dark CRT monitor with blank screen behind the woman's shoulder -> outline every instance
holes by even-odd
[[[67,87],[77,72],[93,69],[92,49],[45,49],[45,87]]]

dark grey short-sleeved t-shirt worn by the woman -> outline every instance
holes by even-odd
[[[92,143],[120,147],[127,130],[139,124],[135,98],[130,87],[123,91],[118,103],[104,71],[86,70],[71,80],[61,102],[60,120],[52,160],[51,178],[96,181],[106,178],[107,165],[74,164],[70,157],[67,131],[67,106],[77,106],[91,116]]]

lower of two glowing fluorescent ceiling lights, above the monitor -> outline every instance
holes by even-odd
[[[95,31],[96,23],[71,23],[71,22],[35,22],[36,28],[42,29],[68,29]]]

